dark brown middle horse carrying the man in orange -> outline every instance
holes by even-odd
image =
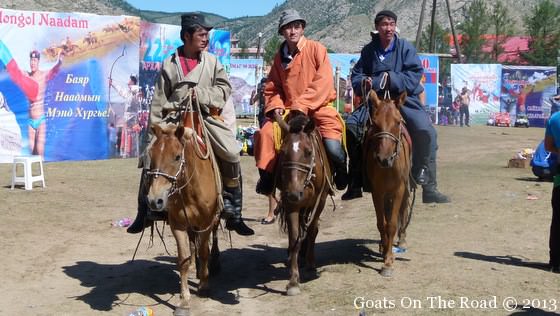
[[[280,223],[288,231],[288,265],[290,281],[287,295],[297,295],[299,288],[298,255],[305,255],[308,270],[315,271],[315,239],[319,216],[331,190],[331,169],[313,120],[295,116],[288,124],[279,116],[282,147],[277,165],[280,199]],[[287,227],[286,227],[287,226]]]

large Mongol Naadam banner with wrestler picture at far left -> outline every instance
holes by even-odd
[[[138,17],[0,9],[0,162],[109,158],[132,110],[109,80],[137,76],[139,30]]]

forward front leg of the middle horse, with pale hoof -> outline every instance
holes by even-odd
[[[299,212],[292,211],[288,215],[288,263],[290,269],[290,281],[286,286],[286,294],[288,296],[298,295],[301,291],[299,289],[299,267],[298,267],[298,253],[301,246],[299,239]]]

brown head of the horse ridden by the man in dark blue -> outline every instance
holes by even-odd
[[[401,93],[396,99],[379,99],[377,93],[371,90],[369,101],[372,105],[370,114],[370,135],[374,142],[375,158],[382,168],[391,168],[399,155],[403,132],[401,125],[404,121],[399,111],[406,99],[406,92]]]

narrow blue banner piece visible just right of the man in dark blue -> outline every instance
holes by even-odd
[[[436,55],[418,55],[424,68],[422,84],[426,93],[426,111],[430,113],[432,123],[437,122],[438,109],[438,83],[439,83],[439,57]]]

